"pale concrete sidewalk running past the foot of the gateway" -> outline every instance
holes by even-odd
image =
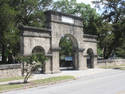
[[[87,70],[66,70],[66,71],[61,71],[60,73],[56,73],[56,74],[34,74],[31,78],[29,78],[28,81],[45,79],[45,78],[50,78],[50,77],[57,77],[57,76],[65,76],[65,75],[70,75],[70,76],[74,76],[75,78],[80,78],[80,77],[84,77],[84,76],[88,76],[88,75],[92,75],[96,73],[103,73],[109,70],[111,69],[95,68],[95,69],[87,69]],[[0,85],[15,83],[15,82],[23,82],[23,79],[0,82]]]

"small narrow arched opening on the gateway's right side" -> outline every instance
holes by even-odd
[[[94,68],[94,53],[91,48],[87,50],[87,68]]]

